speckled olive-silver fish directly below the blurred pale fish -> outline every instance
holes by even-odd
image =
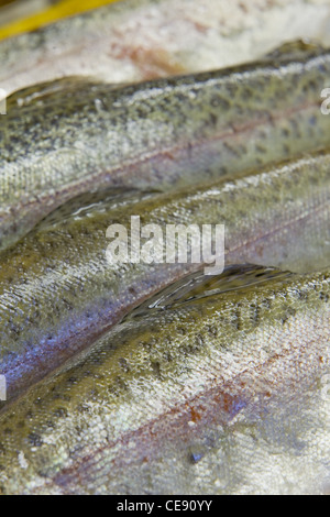
[[[329,52],[296,44],[215,73],[14,95],[0,125],[0,248],[86,191],[176,189],[327,145],[329,73]]]

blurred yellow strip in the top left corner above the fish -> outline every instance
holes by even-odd
[[[47,25],[62,18],[88,11],[107,3],[114,3],[116,1],[118,0],[62,0],[56,6],[45,9],[37,14],[0,28],[0,40],[14,36],[22,32],[33,31],[34,29]]]

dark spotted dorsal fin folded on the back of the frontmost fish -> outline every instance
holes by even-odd
[[[254,264],[231,265],[223,273],[212,276],[205,275],[204,271],[195,272],[144,301],[124,319],[135,319],[155,310],[178,308],[210,296],[244,289],[275,278],[286,279],[293,275],[295,274],[288,271]]]

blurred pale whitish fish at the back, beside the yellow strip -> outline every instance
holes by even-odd
[[[132,82],[206,72],[286,41],[327,45],[329,19],[329,0],[121,1],[2,41],[0,88],[10,95],[72,75]]]

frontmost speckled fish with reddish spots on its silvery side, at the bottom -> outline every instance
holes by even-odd
[[[117,326],[30,391],[0,417],[2,493],[321,493],[330,273],[267,275]]]

